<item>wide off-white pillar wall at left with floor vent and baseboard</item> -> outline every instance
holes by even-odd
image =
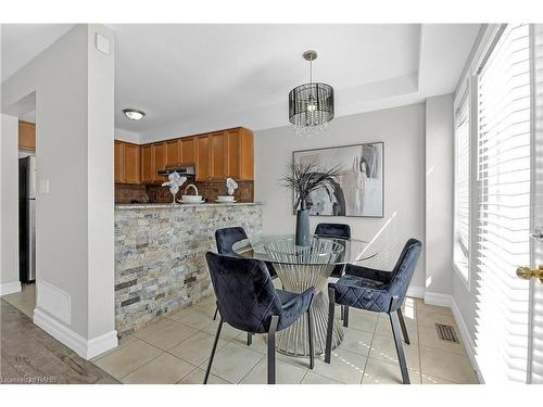
[[[34,319],[84,357],[116,346],[113,46],[109,29],[77,25],[2,84],[2,109],[36,92]]]

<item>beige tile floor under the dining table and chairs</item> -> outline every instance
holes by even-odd
[[[123,338],[119,346],[92,363],[123,383],[202,383],[213,344],[213,298],[168,315]],[[339,315],[339,313],[336,313]],[[477,374],[462,344],[441,341],[434,322],[458,329],[449,308],[407,298],[404,316],[412,344],[405,345],[412,383],[477,383]],[[210,383],[266,383],[266,342],[224,326]],[[352,309],[345,339],[333,351],[330,365],[317,357],[315,369],[306,358],[277,354],[278,383],[401,383],[400,367],[387,315]]]

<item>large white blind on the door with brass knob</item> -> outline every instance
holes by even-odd
[[[478,77],[476,357],[488,383],[526,381],[530,262],[530,39],[508,25]]]

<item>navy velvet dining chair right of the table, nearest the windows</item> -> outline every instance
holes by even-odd
[[[328,284],[330,306],[326,338],[326,363],[329,364],[331,359],[333,311],[336,304],[375,313],[386,313],[389,315],[392,327],[403,383],[409,383],[409,373],[407,371],[407,364],[405,363],[405,354],[400,333],[400,330],[402,330],[405,343],[409,344],[407,328],[402,315],[402,304],[405,300],[407,288],[415,272],[415,266],[417,265],[421,250],[422,243],[420,243],[420,241],[409,239],[407,243],[405,243],[392,271],[348,265],[345,267],[345,275],[337,282]],[[343,325],[346,327],[348,323],[349,313],[345,313],[343,315]]]

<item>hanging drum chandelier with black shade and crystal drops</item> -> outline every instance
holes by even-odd
[[[313,81],[313,61],[317,52],[305,51],[303,58],[310,62],[310,82],[290,91],[289,122],[299,136],[308,137],[325,132],[328,122],[333,118],[333,88]]]

